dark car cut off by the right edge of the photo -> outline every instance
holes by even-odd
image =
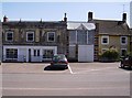
[[[132,68],[132,56],[127,56],[121,58],[120,67],[129,67]]]

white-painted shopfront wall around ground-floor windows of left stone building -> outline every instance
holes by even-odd
[[[6,48],[18,48],[18,55],[25,55],[26,62],[29,62],[29,48],[31,48],[31,55],[34,55],[34,50],[40,50],[40,57],[31,57],[32,62],[42,62],[43,50],[54,50],[54,54],[57,54],[57,46],[16,46],[16,45],[3,45],[3,55],[6,55]],[[4,61],[4,59],[3,59]],[[18,61],[22,62],[23,57],[18,57]]]

